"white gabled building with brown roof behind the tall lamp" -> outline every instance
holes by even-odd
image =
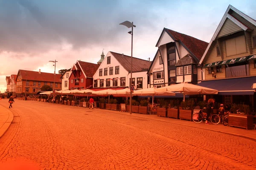
[[[150,61],[133,57],[132,84],[135,89],[148,88]],[[128,88],[131,78],[131,57],[109,51],[96,73],[93,88]]]

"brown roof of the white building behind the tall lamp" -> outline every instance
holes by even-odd
[[[131,71],[131,56],[122,55],[112,51],[110,52],[116,58],[116,60],[123,66],[123,68],[125,68],[126,71]],[[150,65],[151,61],[132,57],[133,72],[145,71],[145,69],[148,69]]]

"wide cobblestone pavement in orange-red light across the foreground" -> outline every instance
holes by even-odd
[[[11,111],[0,169],[13,162],[42,170],[256,169],[256,142],[238,136],[43,102],[17,100]]]

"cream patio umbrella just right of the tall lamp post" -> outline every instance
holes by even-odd
[[[158,90],[156,90],[158,89]],[[154,96],[175,96],[175,93],[171,91],[166,91],[166,89],[159,88],[145,88],[141,90],[134,91],[133,95],[137,96],[152,96],[152,104],[154,104]]]

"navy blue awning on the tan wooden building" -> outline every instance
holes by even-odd
[[[220,79],[202,81],[198,85],[218,90],[218,95],[253,95],[251,89],[256,77],[242,77],[233,79]]]

